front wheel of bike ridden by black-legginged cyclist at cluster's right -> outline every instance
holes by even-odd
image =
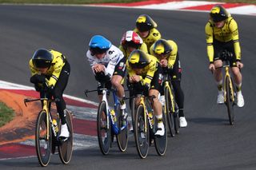
[[[165,105],[165,115],[166,115],[166,121],[167,125],[170,131],[170,136],[175,136],[175,129],[174,129],[174,110],[173,110],[173,102],[171,97],[170,97],[170,89],[168,87],[165,87],[164,89],[165,93],[165,100],[166,100],[166,105]]]

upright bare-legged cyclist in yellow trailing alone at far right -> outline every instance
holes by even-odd
[[[244,99],[242,96],[242,69],[241,49],[238,42],[238,25],[234,18],[223,6],[214,6],[210,10],[210,19],[206,23],[207,54],[210,60],[209,69],[213,71],[215,81],[218,85],[218,104],[224,103],[222,88],[222,70],[216,69],[222,66],[222,58],[218,56],[224,49],[233,53],[230,59],[231,71],[234,74],[234,83],[237,89],[237,105],[242,107]]]

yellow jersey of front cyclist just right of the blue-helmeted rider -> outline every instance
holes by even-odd
[[[150,54],[146,53],[146,55],[150,55]],[[131,68],[128,60],[126,61],[126,69],[128,70],[128,74],[130,77],[134,75],[138,75],[134,72],[134,69]],[[158,58],[150,55],[150,64],[146,65],[146,67],[142,69],[142,73],[139,75],[142,80],[142,85],[146,85],[146,84],[150,85],[154,77],[154,73],[157,70],[158,70]]]

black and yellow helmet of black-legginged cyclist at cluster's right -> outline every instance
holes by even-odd
[[[154,42],[153,52],[157,55],[167,54],[172,51],[170,44],[165,39],[159,39]]]

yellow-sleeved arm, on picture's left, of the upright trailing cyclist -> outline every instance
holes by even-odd
[[[206,31],[206,43],[207,43],[207,55],[209,57],[210,63],[213,63],[214,62],[214,45],[213,45],[214,31],[213,31],[213,27],[211,26],[210,22],[207,22],[205,31]]]

